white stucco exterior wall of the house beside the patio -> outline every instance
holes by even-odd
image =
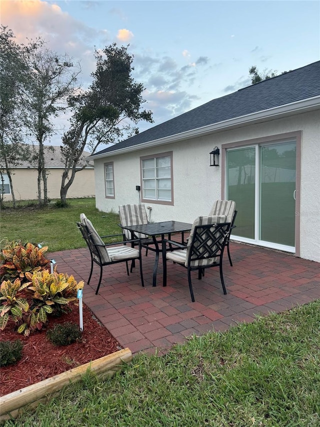
[[[234,142],[265,138],[289,132],[301,132],[301,191],[300,209],[295,212],[300,223],[301,258],[320,261],[320,114],[313,111],[295,116],[273,119],[261,124],[215,132],[210,135],[158,147],[137,150],[94,161],[96,207],[104,212],[118,211],[118,205],[139,203],[135,190],[140,182],[140,156],[172,151],[174,204],[147,203],[152,207],[150,220],[192,222],[198,215],[208,214],[221,194],[221,166],[209,166],[209,152],[217,146]],[[103,163],[112,161],[114,167],[115,198],[105,198]],[[220,155],[221,164],[221,155]]]

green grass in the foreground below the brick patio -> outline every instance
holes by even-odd
[[[15,426],[318,427],[320,302],[86,375]],[[9,422],[6,423],[9,425]]]

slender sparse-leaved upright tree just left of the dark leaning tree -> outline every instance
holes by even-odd
[[[32,51],[28,58],[31,80],[24,92],[25,126],[34,136],[38,150],[33,150],[37,162],[38,203],[42,204],[41,182],[43,183],[43,204],[47,204],[47,172],[44,163],[44,142],[51,136],[53,119],[67,108],[67,98],[77,86],[79,65],[74,68],[70,58],[56,54],[42,44]]]

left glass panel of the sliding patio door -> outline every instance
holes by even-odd
[[[255,147],[227,151],[227,199],[238,211],[234,235],[254,239]]]

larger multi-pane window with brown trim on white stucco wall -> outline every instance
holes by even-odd
[[[141,158],[142,200],[173,204],[172,152]]]

